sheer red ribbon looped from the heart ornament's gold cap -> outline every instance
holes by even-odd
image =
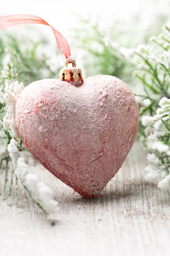
[[[17,15],[7,15],[7,16],[0,17],[0,29],[5,29],[9,26],[14,26],[19,24],[30,24],[30,23],[44,24],[44,25],[50,26],[45,20],[34,15],[17,14]],[[68,45],[68,42],[60,32],[58,32],[52,26],[50,27],[55,35],[60,52],[62,52],[62,54],[65,55],[65,58],[70,57],[71,52],[70,52],[70,47]]]

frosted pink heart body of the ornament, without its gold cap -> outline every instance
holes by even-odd
[[[113,76],[80,87],[57,79],[28,85],[16,105],[16,125],[28,150],[80,195],[100,195],[132,147],[139,122],[132,91]]]

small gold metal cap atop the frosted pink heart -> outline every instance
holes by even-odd
[[[68,67],[68,63],[72,63],[72,67]],[[76,67],[75,59],[70,57],[65,60],[64,67],[59,72],[59,79],[74,86],[80,86],[82,84],[82,70]]]

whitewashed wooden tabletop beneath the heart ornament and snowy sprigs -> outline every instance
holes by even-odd
[[[14,196],[9,205],[0,200],[0,256],[170,255],[170,195],[144,181],[145,166],[136,143],[102,196],[92,199],[38,170],[59,201],[58,222],[51,226],[26,192],[18,209]]]

